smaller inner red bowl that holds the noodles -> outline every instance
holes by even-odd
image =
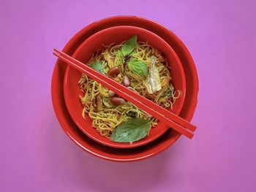
[[[86,39],[86,41],[78,47],[72,56],[78,59],[78,61],[83,62],[83,64],[87,64],[91,59],[91,56],[96,53],[97,50],[103,50],[105,48],[103,45],[110,45],[113,42],[120,44],[133,35],[138,35],[138,41],[148,42],[149,45],[159,50],[162,55],[165,55],[170,66],[173,85],[182,93],[181,98],[178,98],[176,103],[173,105],[173,110],[170,109],[171,112],[178,115],[184,104],[186,93],[184,70],[181,65],[181,61],[178,59],[178,56],[170,45],[151,31],[134,26],[116,26],[113,28],[106,28]],[[78,85],[80,76],[81,72],[73,67],[67,66],[64,77],[64,99],[67,104],[67,110],[75,124],[81,131],[83,131],[83,133],[91,139],[94,139],[94,141],[110,147],[138,147],[145,145],[148,142],[152,142],[168,130],[169,127],[166,126],[165,122],[159,121],[155,128],[151,128],[147,137],[138,142],[133,142],[132,144],[112,142],[109,138],[102,136],[97,132],[96,128],[92,127],[92,121],[91,118],[89,118],[89,115],[86,115],[86,120],[82,117],[83,105],[80,102],[79,95],[83,95],[83,92],[80,90],[80,86]]]

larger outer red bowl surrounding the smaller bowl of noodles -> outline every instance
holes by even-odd
[[[165,41],[173,47],[173,50],[175,50],[178,58],[181,60],[187,82],[187,94],[180,116],[190,121],[197,105],[197,70],[187,47],[175,34],[173,34],[172,31],[169,31],[169,29],[164,26],[161,26],[152,20],[138,18],[135,16],[116,16],[112,18],[105,18],[91,23],[89,26],[86,26],[79,31],[78,34],[75,34],[75,36],[72,37],[64,47],[64,52],[72,55],[85,39],[97,31],[108,27],[124,25],[146,28],[147,30],[157,34],[159,37],[162,37],[162,39],[165,39]],[[86,152],[109,161],[138,161],[157,155],[170,145],[173,145],[173,143],[181,136],[178,132],[169,130],[163,134],[162,137],[159,137],[154,140],[154,142],[150,142],[147,145],[122,150],[94,142],[93,139],[87,137],[77,126],[75,126],[75,123],[72,121],[72,118],[67,111],[63,93],[64,73],[66,69],[67,65],[64,62],[60,60],[56,62],[51,84],[53,108],[64,132],[70,139],[72,139],[73,142],[75,142],[75,144]]]

